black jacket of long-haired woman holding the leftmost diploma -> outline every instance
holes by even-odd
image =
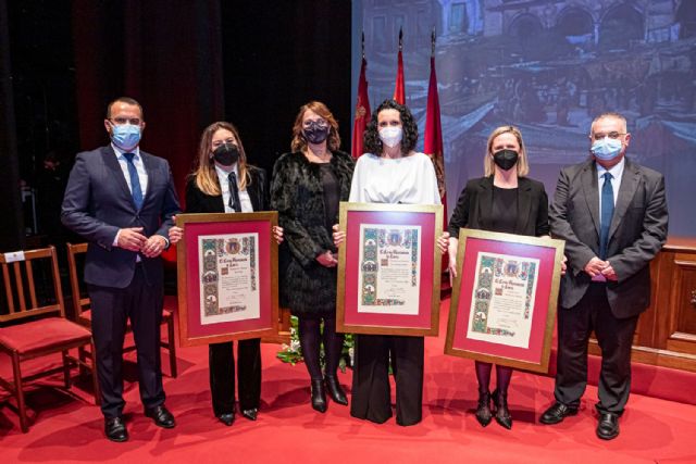
[[[269,195],[265,171],[247,165],[250,183],[247,184],[247,193],[251,200],[253,211],[269,210]],[[225,204],[222,195],[211,196],[203,193],[196,186],[196,177],[191,176],[186,183],[186,212],[187,213],[224,213]]]

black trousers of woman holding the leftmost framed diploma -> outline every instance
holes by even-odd
[[[239,409],[258,409],[261,402],[261,339],[237,342]],[[232,341],[209,348],[210,392],[215,416],[235,412],[235,355]]]

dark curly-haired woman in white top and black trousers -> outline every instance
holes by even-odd
[[[372,114],[364,134],[366,153],[358,159],[351,202],[440,204],[431,159],[413,149],[418,126],[408,108],[385,100]],[[337,234],[338,241],[343,235]],[[447,234],[438,239],[444,252]],[[359,335],[356,337],[350,415],[378,424],[391,417],[389,359],[396,378],[396,422],[421,422],[423,405],[423,337]]]

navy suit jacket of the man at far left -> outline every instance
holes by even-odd
[[[140,150],[148,173],[147,191],[137,210],[128,184],[111,146],[77,154],[65,196],[61,221],[89,241],[85,281],[102,287],[126,288],[135,273],[135,252],[113,247],[120,228],[142,227],[142,235],[169,237],[172,216],[179,212],[178,198],[166,160]],[[162,283],[161,259],[141,256],[148,281]]]

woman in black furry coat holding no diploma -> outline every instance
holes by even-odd
[[[287,264],[281,266],[281,304],[298,316],[311,403],[322,413],[325,388],[335,402],[348,404],[336,377],[344,337],[336,333],[338,262],[332,227],[338,223],[338,203],[348,200],[353,161],[339,146],[338,123],[326,105],[304,104],[293,126],[293,151],[276,161],[271,187],[271,204],[285,230],[281,252]],[[320,364],[322,341],[325,375]]]

